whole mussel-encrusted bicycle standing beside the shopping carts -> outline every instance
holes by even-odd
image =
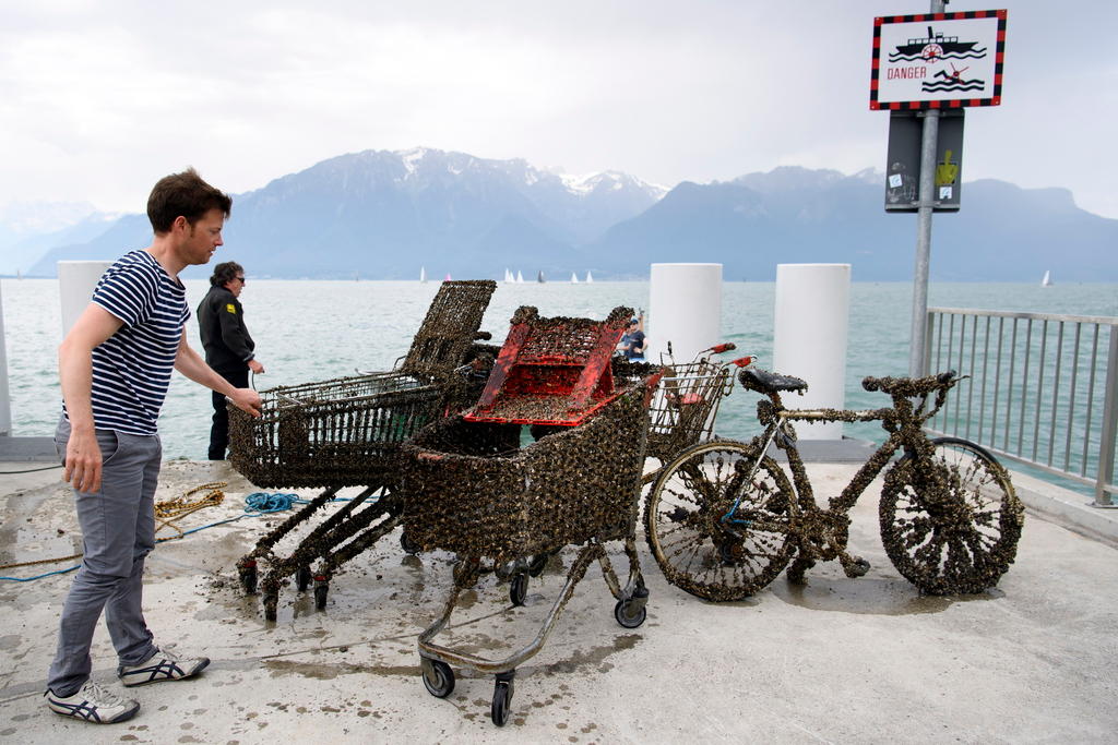
[[[881,539],[921,592],[983,592],[1006,572],[1024,515],[1008,474],[974,442],[928,439],[921,430],[961,380],[954,372],[866,378],[865,390],[893,399],[891,408],[870,411],[787,409],[780,393],[805,391],[804,381],[752,367],[738,380],[767,397],[757,404],[764,432],[750,442],[714,439],[679,452],[645,500],[648,545],[673,584],[727,601],[759,591],[789,562],[792,581],[803,581],[819,560],[837,558],[851,577],[865,574],[869,564],[847,551],[847,514],[883,470]],[[879,420],[888,439],[840,495],[816,504],[793,421]],[[787,453],[790,481],[770,446]]]

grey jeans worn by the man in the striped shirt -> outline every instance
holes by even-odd
[[[66,456],[70,427],[65,417],[55,448]],[[63,608],[58,651],[47,687],[70,696],[89,679],[89,646],[105,612],[120,665],[139,665],[158,649],[143,619],[143,560],[155,547],[155,485],[163,453],[159,436],[96,430],[101,446],[101,490],[74,490],[84,556]]]

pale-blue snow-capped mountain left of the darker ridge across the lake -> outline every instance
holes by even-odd
[[[496,276],[509,265],[586,270],[595,267],[577,247],[663,193],[617,172],[571,179],[521,159],[369,150],[236,195],[224,250],[277,276],[410,278],[420,264],[454,276]],[[59,258],[45,257],[36,273],[50,274]]]

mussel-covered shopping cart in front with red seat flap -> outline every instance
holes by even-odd
[[[614,375],[610,357],[631,315],[615,308],[605,322],[543,318],[521,307],[477,405],[432,424],[402,448],[408,536],[424,550],[457,555],[443,613],[419,637],[424,684],[443,698],[454,689],[451,665],[494,674],[491,714],[499,726],[509,716],[517,667],[542,648],[595,560],[617,599],[615,619],[636,628],[646,617],[635,529],[656,375]],[[525,424],[538,439],[521,447]],[[608,541],[624,542],[624,585],[606,554]],[[510,579],[510,598],[520,605],[529,575],[568,545],[581,547],[527,647],[490,660],[435,643],[458,594],[485,569]]]

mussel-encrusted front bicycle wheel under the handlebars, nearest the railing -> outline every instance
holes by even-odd
[[[980,447],[954,437],[932,446],[930,462],[906,457],[885,476],[881,542],[926,594],[983,592],[1016,557],[1024,508],[1008,474]]]

